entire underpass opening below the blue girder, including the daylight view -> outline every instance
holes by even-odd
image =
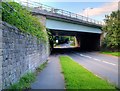
[[[100,48],[100,34],[49,30],[52,34],[51,43],[53,51],[97,51]]]

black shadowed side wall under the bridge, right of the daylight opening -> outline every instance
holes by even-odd
[[[100,50],[100,34],[81,34],[80,49],[85,51],[97,51]]]

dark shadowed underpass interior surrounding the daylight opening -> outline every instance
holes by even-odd
[[[100,34],[86,33],[86,32],[75,32],[65,30],[53,30],[49,29],[53,36],[74,36],[75,47],[68,49],[54,49],[57,50],[77,50],[77,51],[96,51],[100,48]]]

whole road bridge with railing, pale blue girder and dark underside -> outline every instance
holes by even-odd
[[[31,13],[55,36],[75,36],[82,50],[99,50],[102,22],[41,3],[27,3]],[[32,7],[32,8],[31,8]]]

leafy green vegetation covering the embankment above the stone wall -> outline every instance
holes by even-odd
[[[45,27],[35,16],[16,2],[2,2],[2,20],[42,41],[47,41]]]

